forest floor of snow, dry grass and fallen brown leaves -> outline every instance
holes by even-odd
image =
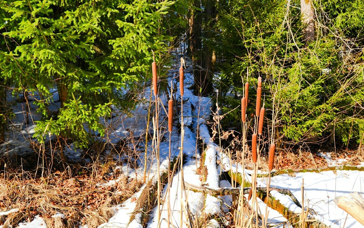
[[[159,96],[159,142],[153,140],[152,121],[146,130],[148,114],[155,115],[153,100],[150,103],[150,88],[141,93],[140,103],[131,113],[115,111],[111,119],[104,119],[106,137],[98,138],[97,143],[87,150],[75,149],[68,141],[60,144],[52,135],[45,144],[39,144],[32,137],[35,121],[40,119],[40,115],[35,113],[36,106],[30,102],[27,123],[25,103],[13,101],[16,118],[8,130],[8,142],[0,145],[0,228],[152,228],[159,227],[158,218],[160,227],[167,227],[168,222],[174,227],[181,224],[183,227],[234,227],[229,223],[233,217],[231,194],[215,196],[190,188],[232,188],[230,177],[221,175],[228,171],[245,173],[244,179],[251,183],[252,170],[249,167],[252,167],[252,162],[247,153],[243,169],[239,156],[229,154],[230,151],[214,143],[216,138],[212,137],[210,129],[213,124],[207,125],[207,122],[211,121],[210,115],[216,117],[219,113],[210,109],[214,101],[197,97],[187,89],[193,84],[191,67],[189,64],[187,67],[182,104],[176,78],[171,79],[176,96],[175,124],[171,134],[167,131],[166,120],[168,93]],[[178,67],[171,69],[175,69],[171,70],[171,75],[175,75]],[[57,101],[56,91],[54,96]],[[52,103],[52,109],[57,110],[58,105],[57,102]],[[161,213],[158,214],[158,207],[140,211],[138,207],[142,201],[148,201],[141,198],[146,186],[150,187],[146,183],[159,176],[157,163],[160,170],[166,170],[180,152],[183,152],[183,169],[177,169],[173,178],[161,189]],[[364,227],[334,202],[335,197],[363,192],[363,148],[337,152],[280,150],[276,161],[273,171],[284,172],[273,173],[270,186],[289,189],[299,203],[308,208],[306,211],[311,219],[332,228]],[[258,174],[261,177],[257,179],[257,186],[266,187],[268,165],[265,157],[261,157],[259,162]],[[335,168],[324,170],[328,167]],[[172,170],[168,169],[168,173]],[[270,194],[285,208],[301,213],[302,208],[290,197],[275,190]],[[260,199],[257,202],[261,214],[268,217],[271,226],[296,227],[274,209],[267,208],[268,213],[265,214],[266,204]],[[147,214],[150,216],[145,218]],[[206,219],[206,215],[214,219]]]

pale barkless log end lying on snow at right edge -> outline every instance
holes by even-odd
[[[361,225],[364,225],[364,198],[357,192],[335,198],[337,207],[353,216]]]

